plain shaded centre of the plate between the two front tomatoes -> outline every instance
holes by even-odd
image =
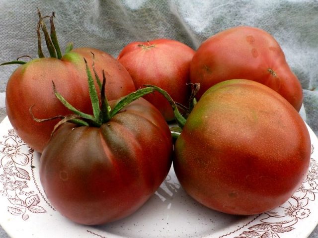
[[[137,212],[87,232],[105,238],[112,238],[110,234],[114,238],[200,238],[226,235],[256,217],[228,215],[199,204],[182,189],[171,167],[156,193]]]

